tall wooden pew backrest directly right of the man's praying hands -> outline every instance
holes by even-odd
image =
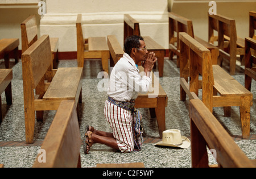
[[[199,74],[201,74],[202,101],[212,111],[214,79],[210,51],[185,32],[179,33],[179,39],[180,78],[188,81],[190,77],[189,91],[198,96]]]

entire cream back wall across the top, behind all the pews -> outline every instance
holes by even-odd
[[[142,36],[151,36],[168,49],[168,10],[193,20],[195,35],[207,40],[209,1],[200,0],[44,0],[47,14],[38,14],[40,0],[0,0],[0,39],[19,38],[20,23],[31,14],[38,18],[39,33],[60,38],[60,52],[76,51],[76,16],[82,13],[84,35],[116,35],[123,45],[123,14],[141,23]],[[217,13],[236,20],[237,34],[249,35],[248,11],[256,0],[216,0]]]

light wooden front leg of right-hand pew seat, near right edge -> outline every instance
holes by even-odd
[[[250,97],[241,97],[240,119],[242,127],[242,138],[250,137]]]

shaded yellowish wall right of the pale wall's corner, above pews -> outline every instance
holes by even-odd
[[[196,36],[208,40],[208,10],[210,1],[169,0],[169,9],[193,22]],[[256,11],[255,0],[216,0],[217,14],[236,20],[237,36],[249,36],[249,11]]]

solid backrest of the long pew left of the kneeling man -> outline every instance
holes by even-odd
[[[51,65],[51,61],[52,52],[49,35],[43,35],[22,54],[23,82],[29,81],[31,87],[35,89]],[[25,78],[26,80],[24,80]]]

